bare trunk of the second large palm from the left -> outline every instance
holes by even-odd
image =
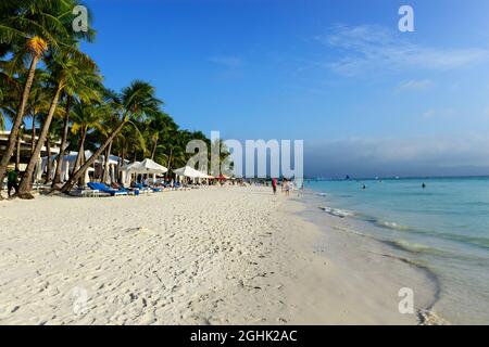
[[[33,172],[34,168],[37,165],[38,157],[42,150],[42,144],[48,137],[49,127],[51,126],[52,117],[54,116],[54,112],[58,106],[58,100],[60,99],[62,82],[58,83],[57,91],[54,93],[54,98],[52,99],[51,105],[49,106],[48,116],[46,117],[45,124],[42,125],[41,132],[39,133],[39,140],[36,142],[36,147],[34,149],[34,153],[30,156],[30,160],[27,164],[27,168],[25,169],[24,176],[22,177],[21,185],[18,187],[18,197],[21,198],[34,198],[30,194],[30,189],[33,185]]]

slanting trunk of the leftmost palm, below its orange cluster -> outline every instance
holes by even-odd
[[[17,139],[18,128],[21,127],[22,119],[24,118],[25,106],[29,98],[30,88],[33,87],[34,75],[36,74],[36,66],[39,60],[40,54],[35,54],[33,61],[30,62],[29,73],[27,75],[27,80],[25,81],[21,104],[18,106],[17,114],[15,115],[15,119],[12,124],[12,130],[10,131],[9,143],[7,144],[5,152],[3,152],[2,159],[0,160],[0,182],[3,181],[3,175],[5,175],[7,166],[9,165],[10,158],[12,157],[15,147],[15,140]],[[0,184],[0,192],[2,190],[2,185],[3,184]]]

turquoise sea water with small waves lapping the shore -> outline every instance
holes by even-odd
[[[428,268],[442,318],[489,323],[489,178],[306,181],[305,188],[325,213],[355,220],[363,233]]]

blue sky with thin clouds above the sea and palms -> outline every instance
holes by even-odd
[[[87,4],[106,85],[152,82],[183,128],[303,139],[310,175],[489,166],[487,0]]]

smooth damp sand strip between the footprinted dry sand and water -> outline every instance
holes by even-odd
[[[349,226],[342,218],[321,211],[308,191],[297,198],[297,203],[301,207],[296,215],[318,231],[313,252],[327,259],[331,267],[341,269],[330,275],[328,282],[348,287],[343,293],[331,295],[329,300],[349,307],[344,309],[350,311],[349,318],[331,320],[326,317],[326,324],[448,324],[431,310],[439,293],[432,271],[392,254],[388,245],[356,231],[356,226]],[[364,266],[365,261],[375,266]],[[402,297],[398,296],[398,290],[410,286],[415,294],[415,313],[401,314],[398,304]]]

